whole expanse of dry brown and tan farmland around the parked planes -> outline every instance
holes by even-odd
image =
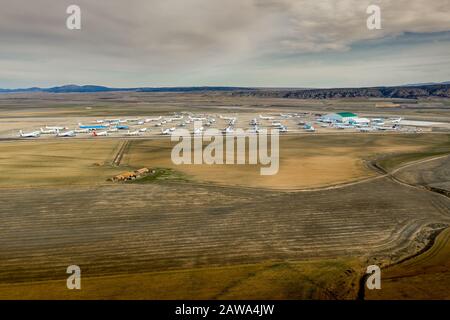
[[[42,123],[156,115],[166,104],[234,106],[239,115],[347,103],[88,96],[19,95],[0,99],[0,112]],[[360,102],[362,112],[373,103]],[[404,113],[442,115],[414,110]],[[400,111],[373,111],[383,112]],[[268,177],[255,165],[176,166],[173,145],[166,137],[0,141],[0,298],[448,298],[448,133],[287,135],[279,173]],[[142,167],[166,174],[107,181]],[[80,291],[66,288],[72,264],[82,270]],[[361,290],[368,264],[383,268],[380,291]]]

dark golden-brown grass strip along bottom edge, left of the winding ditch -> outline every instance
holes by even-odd
[[[359,263],[323,260],[0,285],[0,299],[353,299]]]

